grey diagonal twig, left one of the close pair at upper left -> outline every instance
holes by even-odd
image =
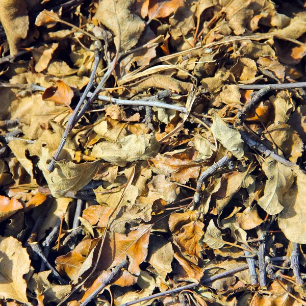
[[[75,107],[75,110],[73,111],[73,114],[68,119],[68,123],[67,123],[67,126],[66,126],[66,130],[64,132],[63,138],[62,138],[62,140],[61,140],[61,142],[60,142],[60,144],[57,148],[57,151],[56,151],[56,153],[53,157],[53,160],[50,162],[50,164],[48,166],[48,171],[49,172],[53,171],[54,164],[58,160],[58,158],[60,156],[60,153],[61,153],[61,151],[62,151],[62,149],[63,149],[63,147],[64,147],[64,145],[67,141],[68,134],[72,130],[73,126],[79,121],[76,118],[77,118],[78,112],[79,112],[82,104],[84,103],[84,100],[86,99],[86,96],[87,96],[88,92],[90,91],[90,89],[93,86],[93,81],[94,81],[95,73],[96,73],[96,70],[97,70],[97,67],[98,67],[98,64],[99,64],[99,60],[100,60],[99,54],[98,54],[98,52],[95,52],[94,64],[93,64],[93,69],[91,71],[89,82],[88,82],[88,84],[85,88],[85,91],[83,92],[83,94],[80,98],[80,101],[79,101],[77,107]]]

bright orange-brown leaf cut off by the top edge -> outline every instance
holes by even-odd
[[[150,0],[148,8],[149,19],[168,17],[181,6],[184,6],[183,0]]]

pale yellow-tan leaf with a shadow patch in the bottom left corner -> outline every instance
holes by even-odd
[[[0,237],[0,297],[28,303],[24,274],[30,271],[27,250],[13,237]]]

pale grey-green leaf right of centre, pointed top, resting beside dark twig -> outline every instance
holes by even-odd
[[[221,119],[217,112],[212,112],[213,124],[211,131],[220,143],[228,150],[230,150],[235,157],[241,159],[244,155],[243,141],[240,133],[237,130],[231,129]]]

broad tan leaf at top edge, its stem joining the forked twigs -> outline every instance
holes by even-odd
[[[133,14],[134,1],[101,0],[98,4],[94,18],[100,21],[115,34],[115,45],[120,50],[129,50],[134,47],[140,38],[144,28],[144,21]],[[120,33],[120,34],[119,34]]]

